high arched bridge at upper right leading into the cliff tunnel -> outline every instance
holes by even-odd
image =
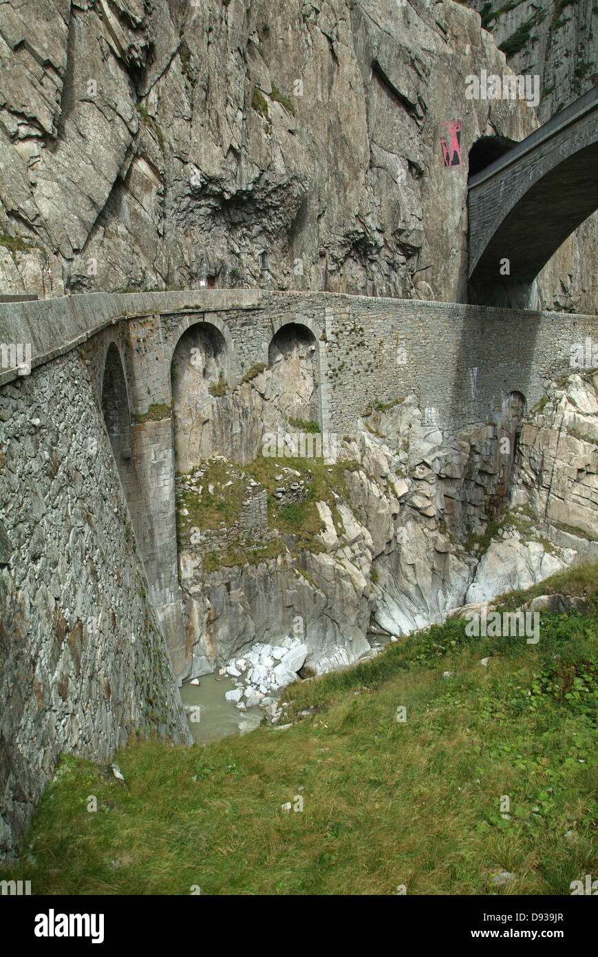
[[[509,303],[566,237],[598,209],[598,87],[576,100],[469,181],[473,301]],[[501,261],[510,272],[502,275]]]

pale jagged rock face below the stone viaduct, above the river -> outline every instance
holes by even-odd
[[[231,561],[222,552],[214,567],[214,547],[233,545],[223,532],[202,530],[195,546],[183,535],[193,670],[244,657],[255,642],[280,644],[295,626],[307,648],[301,674],[321,674],[368,654],[371,633],[409,634],[464,602],[595,559],[597,401],[594,378],[574,374],[542,409],[526,416],[512,393],[496,423],[447,434],[408,396],[340,443],[329,497],[316,501],[319,523],[311,535],[304,525],[302,542],[280,532],[284,509],[272,493],[270,538],[246,525]],[[238,480],[255,484],[252,468]],[[222,493],[212,486],[223,502],[227,478]],[[276,557],[258,550],[263,560],[248,563],[265,541]]]

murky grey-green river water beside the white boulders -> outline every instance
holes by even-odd
[[[187,711],[188,726],[194,741],[200,745],[230,734],[246,734],[262,720],[261,708],[239,711],[233,701],[225,700],[225,693],[233,688],[233,681],[222,678],[217,672],[200,678],[199,684],[182,686],[181,699]]]

